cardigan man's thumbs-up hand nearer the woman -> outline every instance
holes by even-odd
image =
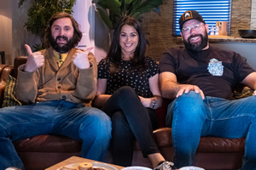
[[[88,59],[88,54],[92,48],[87,48],[85,51],[78,49],[75,54],[73,54],[73,64],[79,69],[86,69],[90,67],[90,62]]]

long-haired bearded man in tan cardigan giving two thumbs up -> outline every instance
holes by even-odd
[[[96,95],[96,59],[75,48],[82,33],[73,16],[54,14],[44,40],[49,48],[28,53],[18,69],[16,98],[24,105],[0,110],[0,169],[24,169],[12,141],[39,134],[61,134],[83,141],[82,157],[102,161],[111,139],[111,122],[90,107]]]

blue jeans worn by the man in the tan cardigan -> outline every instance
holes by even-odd
[[[65,100],[2,108],[0,169],[24,168],[12,141],[49,133],[83,141],[82,156],[102,161],[111,139],[111,121],[103,111]]]

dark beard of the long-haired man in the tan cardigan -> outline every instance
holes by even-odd
[[[60,39],[60,38],[67,41],[67,43],[64,44],[62,47],[57,43],[57,40]],[[70,49],[72,49],[76,46],[75,42],[74,42],[74,37],[72,37],[70,40],[68,40],[68,38],[66,36],[57,36],[56,38],[50,36],[49,37],[49,43],[50,43],[51,47],[54,48],[55,51],[60,53],[60,54],[65,54]]]

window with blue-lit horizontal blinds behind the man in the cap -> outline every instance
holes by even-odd
[[[187,10],[196,10],[211,30],[216,27],[216,21],[228,21],[228,35],[230,35],[231,0],[174,0],[172,35],[179,36],[179,17]]]

